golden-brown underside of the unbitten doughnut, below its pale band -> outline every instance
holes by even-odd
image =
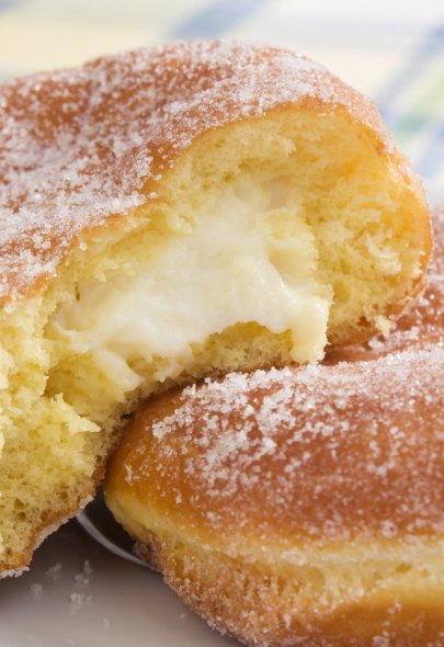
[[[422,572],[409,574],[409,565],[401,561],[395,566],[397,577],[390,572],[384,581],[379,572],[383,580],[373,592],[362,589],[358,594],[351,581],[349,589],[334,591],[332,603],[332,590],[316,567],[306,567],[311,572],[305,574],[305,582],[294,574],[276,575],[274,568],[267,576],[253,563],[152,533],[136,550],[212,628],[249,646],[444,645],[444,579],[434,577],[426,560]],[[437,568],[443,572],[443,565]]]

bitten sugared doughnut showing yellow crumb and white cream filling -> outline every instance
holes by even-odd
[[[0,186],[3,575],[91,498],[141,398],[387,331],[431,253],[375,106],[274,47],[2,84]]]

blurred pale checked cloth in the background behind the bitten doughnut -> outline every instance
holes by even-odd
[[[285,45],[376,101],[444,200],[442,0],[0,0],[0,79],[171,39]]]

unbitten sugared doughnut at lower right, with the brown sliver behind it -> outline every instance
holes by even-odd
[[[444,645],[444,209],[435,225],[394,341],[158,396],[111,461],[138,555],[246,645]]]

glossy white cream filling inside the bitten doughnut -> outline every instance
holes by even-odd
[[[293,202],[270,208],[276,201],[264,189],[228,188],[187,232],[166,238],[143,272],[80,285],[54,326],[124,390],[141,382],[128,362],[167,357],[156,378],[174,377],[192,364],[192,344],[241,322],[291,330],[295,362],[321,359],[331,290],[312,277],[316,241]]]

